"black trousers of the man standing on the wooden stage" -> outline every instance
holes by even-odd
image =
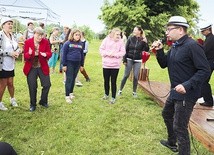
[[[204,98],[205,102],[207,102],[210,105],[213,105],[212,89],[211,89],[211,86],[209,84],[209,81],[210,81],[210,78],[212,76],[212,72],[214,70],[214,60],[208,60],[208,61],[210,64],[211,73],[210,73],[209,78],[202,85],[201,97]]]

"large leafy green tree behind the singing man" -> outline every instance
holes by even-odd
[[[107,29],[119,27],[128,35],[140,25],[152,41],[165,36],[165,25],[170,16],[184,16],[191,26],[195,26],[198,9],[195,0],[115,0],[112,4],[105,0],[98,18]]]

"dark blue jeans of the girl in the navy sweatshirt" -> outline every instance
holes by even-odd
[[[80,62],[77,61],[68,61],[67,62],[67,70],[66,70],[66,82],[65,82],[65,95],[69,96],[70,93],[73,93],[75,79],[77,77],[77,73],[80,69]]]

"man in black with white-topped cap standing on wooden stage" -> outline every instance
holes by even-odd
[[[210,77],[214,70],[214,36],[212,34],[212,24],[203,23],[203,25],[201,25],[200,31],[206,37],[203,47],[211,69],[209,78],[203,83],[202,86],[201,97],[203,97],[204,102],[200,103],[200,105],[212,107],[213,106],[212,89],[209,84]]]

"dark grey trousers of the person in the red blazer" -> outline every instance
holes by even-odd
[[[48,103],[48,93],[51,87],[50,76],[44,75],[42,69],[39,68],[32,68],[27,76],[27,84],[29,88],[30,94],[30,106],[36,106],[36,96],[37,96],[37,78],[39,77],[42,92],[41,92],[41,99],[39,101],[40,104]]]

